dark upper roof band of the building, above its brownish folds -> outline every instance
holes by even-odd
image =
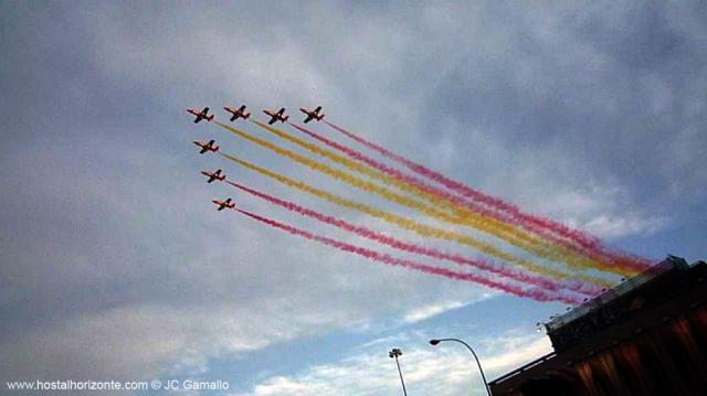
[[[553,352],[507,373],[489,385],[506,394],[542,373],[595,356],[677,318],[707,299],[707,263],[665,260],[546,323]]]

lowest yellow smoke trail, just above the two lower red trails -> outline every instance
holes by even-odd
[[[592,277],[592,276],[589,276],[589,275],[585,275],[585,274],[568,275],[568,274],[566,274],[563,271],[560,271],[560,270],[557,270],[557,269],[553,269],[553,268],[548,268],[548,267],[535,264],[532,261],[515,257],[515,256],[513,256],[513,255],[510,255],[510,254],[508,254],[506,251],[499,250],[499,249],[497,249],[496,247],[494,247],[492,245],[485,244],[485,243],[483,243],[481,240],[477,240],[477,239],[474,239],[474,238],[472,238],[469,236],[457,234],[457,233],[445,231],[445,229],[441,229],[441,228],[436,228],[436,227],[432,227],[432,226],[428,226],[428,225],[424,225],[424,224],[420,224],[420,223],[418,223],[415,221],[412,221],[412,220],[409,220],[409,218],[405,218],[405,217],[402,217],[402,216],[398,216],[398,215],[392,214],[392,213],[384,212],[384,211],[376,208],[373,206],[369,206],[369,205],[366,205],[366,204],[362,204],[362,203],[359,203],[359,202],[356,202],[356,201],[351,201],[351,200],[345,199],[342,196],[333,194],[330,192],[316,189],[316,188],[314,188],[314,186],[312,186],[309,184],[306,184],[304,182],[289,179],[289,178],[287,178],[285,175],[282,175],[279,173],[276,173],[276,172],[266,170],[264,168],[257,167],[257,165],[255,165],[253,163],[250,163],[247,161],[241,160],[241,159],[239,159],[236,157],[229,156],[229,154],[225,154],[225,153],[221,153],[221,156],[223,156],[224,158],[226,158],[226,159],[229,159],[229,160],[231,160],[231,161],[233,161],[233,162],[235,162],[235,163],[238,163],[238,164],[240,164],[240,165],[242,165],[244,168],[247,168],[247,169],[250,169],[252,171],[255,171],[255,172],[257,172],[260,174],[263,174],[263,175],[265,175],[267,178],[274,179],[274,180],[276,180],[276,181],[278,181],[278,182],[281,182],[281,183],[283,183],[283,184],[285,184],[285,185],[287,185],[289,188],[306,192],[308,194],[317,196],[317,197],[319,197],[321,200],[325,200],[327,202],[337,204],[339,206],[342,206],[342,207],[346,207],[346,208],[349,208],[349,210],[354,210],[354,211],[357,211],[357,212],[360,212],[360,213],[365,213],[365,214],[367,214],[369,216],[372,216],[372,217],[380,218],[380,220],[382,220],[384,222],[394,224],[394,225],[397,225],[399,227],[402,227],[404,229],[414,232],[414,233],[416,233],[419,235],[422,235],[422,236],[425,236],[425,237],[434,237],[434,238],[437,238],[437,239],[444,239],[444,240],[450,240],[450,242],[455,242],[455,243],[458,243],[458,244],[462,244],[462,245],[466,245],[466,246],[469,246],[469,247],[472,247],[474,249],[477,249],[477,250],[479,250],[482,253],[485,253],[485,254],[487,254],[489,256],[497,257],[497,258],[499,258],[502,260],[505,260],[507,263],[513,263],[513,264],[519,265],[519,266],[525,267],[525,268],[527,268],[527,269],[529,269],[529,270],[531,270],[534,272],[542,274],[545,276],[549,276],[549,277],[552,277],[555,279],[567,279],[569,277],[577,277],[577,278],[582,279],[584,281],[588,281],[588,282],[591,282],[591,283],[595,283],[595,285],[600,285],[602,287],[611,287],[613,285],[613,283],[606,281],[605,279]]]

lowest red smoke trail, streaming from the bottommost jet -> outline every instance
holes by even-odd
[[[348,251],[348,253],[352,253],[362,257],[366,257],[370,260],[373,261],[379,261],[389,266],[400,266],[400,267],[404,267],[404,268],[410,268],[410,269],[414,269],[418,271],[422,271],[425,274],[430,274],[430,275],[437,275],[437,276],[442,276],[449,279],[456,279],[456,280],[464,280],[464,281],[468,281],[468,282],[475,282],[475,283],[479,283],[483,286],[486,286],[488,288],[492,289],[497,289],[497,290],[502,290],[504,292],[510,293],[510,295],[515,295],[518,297],[528,297],[531,299],[535,299],[537,301],[560,301],[562,303],[567,303],[567,304],[579,304],[581,301],[578,298],[571,298],[571,297],[567,297],[567,296],[551,296],[548,295],[545,290],[540,290],[540,289],[536,289],[536,288],[531,288],[531,289],[523,289],[516,286],[511,286],[511,285],[505,285],[502,282],[497,282],[495,280],[485,278],[483,276],[478,276],[475,274],[469,274],[469,272],[458,272],[458,271],[453,271],[451,269],[446,269],[446,268],[442,268],[442,267],[434,267],[434,266],[429,266],[425,264],[420,264],[420,263],[415,263],[412,260],[407,260],[407,259],[402,259],[402,258],[397,258],[397,257],[392,257],[388,254],[383,254],[383,253],[379,253],[376,250],[370,250],[367,249],[365,247],[360,247],[360,246],[356,246],[356,245],[351,245],[351,244],[347,244],[340,240],[336,240],[336,239],[331,239],[331,238],[327,238],[325,236],[319,236],[319,235],[315,235],[312,234],[309,232],[306,232],[304,229],[299,229],[296,227],[293,227],[291,225],[284,224],[284,223],[279,223],[276,222],[272,218],[267,218],[264,216],[260,216],[256,215],[254,213],[250,213],[240,208],[236,208],[238,212],[253,218],[256,220],[258,222],[265,223],[272,227],[275,228],[279,228],[282,231],[285,231],[289,234],[293,235],[297,235],[300,236],[305,239],[309,239],[309,240],[315,240],[318,242],[323,245],[326,246],[331,246],[331,247],[336,247],[337,249],[344,250],[344,251]]]

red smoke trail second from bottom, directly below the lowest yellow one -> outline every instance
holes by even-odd
[[[601,287],[597,286],[597,285],[591,285],[591,283],[587,283],[583,281],[579,281],[579,280],[563,280],[563,281],[555,281],[551,279],[548,279],[546,277],[542,276],[538,276],[535,274],[528,274],[526,271],[519,270],[517,268],[513,268],[508,265],[504,265],[504,264],[496,264],[494,261],[490,260],[474,260],[471,258],[466,258],[460,255],[453,255],[453,254],[447,254],[444,251],[441,251],[439,249],[435,248],[429,248],[429,247],[424,247],[421,245],[416,245],[416,244],[411,244],[404,240],[400,240],[397,238],[393,238],[391,236],[388,236],[386,234],[382,233],[378,233],[376,231],[372,231],[370,228],[367,227],[362,227],[362,226],[358,226],[351,223],[348,223],[346,221],[342,221],[340,218],[336,218],[334,216],[328,216],[325,215],[323,213],[313,211],[310,208],[304,207],[304,206],[299,206],[296,203],[289,202],[289,201],[285,201],[285,200],[281,200],[278,197],[265,194],[263,192],[246,188],[245,185],[239,184],[239,183],[234,183],[231,181],[226,181],[226,183],[231,184],[232,186],[244,191],[251,195],[257,196],[262,200],[265,200],[272,204],[282,206],[291,212],[295,212],[298,213],[303,216],[307,216],[307,217],[312,217],[315,218],[321,223],[326,223],[329,225],[333,225],[335,227],[345,229],[347,232],[357,234],[359,236],[362,236],[365,238],[371,239],[371,240],[376,240],[378,243],[381,243],[383,245],[388,245],[391,246],[393,248],[397,248],[399,250],[403,250],[403,251],[408,251],[408,253],[414,253],[414,254],[419,254],[419,255],[423,255],[423,256],[428,256],[428,257],[432,257],[432,258],[436,258],[436,259],[441,259],[441,260],[447,260],[447,261],[452,261],[454,264],[457,265],[462,265],[462,266],[472,266],[472,267],[476,267],[478,269],[483,269],[483,270],[487,270],[494,274],[498,274],[503,277],[507,277],[507,278],[511,278],[521,282],[526,282],[526,283],[530,283],[530,285],[535,285],[538,287],[542,287],[545,289],[548,290],[552,290],[552,291],[561,291],[563,289],[569,289],[582,295],[587,295],[587,296],[597,296],[599,293],[601,293]]]

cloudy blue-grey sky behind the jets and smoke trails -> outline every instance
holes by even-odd
[[[488,378],[551,351],[536,323],[563,304],[387,267],[214,211],[212,199],[233,196],[376,247],[199,174],[223,168],[400,233],[198,156],[192,140],[402,212],[194,125],[188,107],[224,119],[222,106],[245,103],[264,120],[264,108],[294,119],[323,105],[337,125],[618,249],[707,257],[704,1],[0,1],[0,11],[2,382],[222,379],[229,389],[208,394],[395,395],[388,351],[400,347],[411,395],[483,395],[468,352],[429,339],[467,341]]]

